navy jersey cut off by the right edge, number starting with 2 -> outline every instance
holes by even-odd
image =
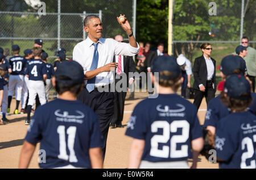
[[[221,119],[215,146],[220,168],[256,168],[256,116],[250,111],[234,112]]]

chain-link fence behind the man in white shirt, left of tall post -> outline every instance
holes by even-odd
[[[28,3],[30,2],[30,3]],[[10,0],[0,5],[0,47],[5,50],[7,58],[12,56],[11,46],[18,44],[20,55],[23,51],[34,47],[35,39],[43,40],[43,49],[49,55],[48,62],[53,64],[56,60],[57,49],[64,48],[66,56],[72,58],[73,48],[86,38],[83,29],[85,16],[94,14],[100,16],[103,26],[103,37],[122,35],[127,40],[125,32],[117,23],[119,14],[126,14],[133,27],[133,1],[66,1],[61,0],[58,13],[58,1],[44,1],[46,13],[42,14],[38,6],[32,1]],[[125,2],[125,6],[122,6]],[[114,5],[112,4],[114,3]],[[100,5],[95,7],[95,5]],[[32,7],[33,6],[33,7]],[[54,6],[54,7],[53,7]],[[52,9],[51,9],[52,7]],[[113,11],[116,10],[116,11]],[[47,12],[55,11],[55,12]],[[40,14],[41,12],[41,14]],[[77,13],[80,12],[80,13]]]

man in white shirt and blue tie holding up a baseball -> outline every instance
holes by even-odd
[[[113,62],[113,57],[116,55],[134,56],[139,52],[139,45],[133,36],[127,18],[122,23],[117,17],[117,21],[125,30],[129,43],[102,38],[100,18],[96,15],[88,15],[84,19],[84,30],[88,33],[88,37],[73,49],[73,60],[82,65],[85,74],[85,88],[77,99],[92,108],[98,116],[104,139],[103,157],[106,152],[109,124],[114,112],[114,94],[110,92],[109,87],[113,82],[113,72],[110,70],[117,68],[118,62]],[[98,90],[98,87],[103,86],[109,91]]]

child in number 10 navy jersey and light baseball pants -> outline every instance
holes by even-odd
[[[14,114],[18,114],[19,102],[22,97],[22,86],[24,82],[24,66],[26,65],[26,59],[19,56],[19,46],[13,45],[12,52],[13,57],[9,59],[9,64],[11,66],[11,74],[9,78],[9,92],[8,92],[8,108],[7,112],[10,112],[11,99],[14,95],[16,97],[16,108]]]

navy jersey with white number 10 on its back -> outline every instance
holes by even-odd
[[[12,70],[11,75],[24,75],[24,66],[26,65],[26,58],[22,56],[10,57],[9,64]]]

